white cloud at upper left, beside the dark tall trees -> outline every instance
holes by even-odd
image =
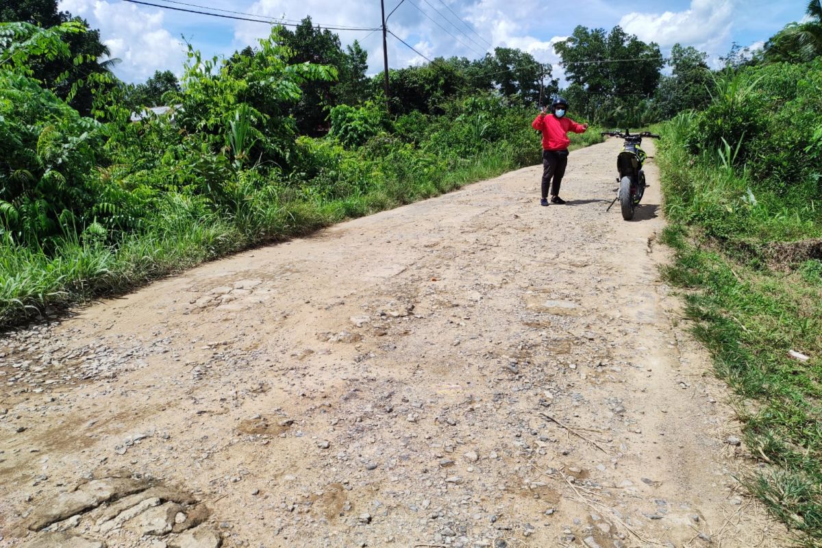
[[[164,29],[162,10],[100,0],[62,0],[59,9],[83,17],[92,29],[99,29],[112,57],[122,59],[114,72],[124,81],[145,81],[156,70],[182,70],[185,46]]]

